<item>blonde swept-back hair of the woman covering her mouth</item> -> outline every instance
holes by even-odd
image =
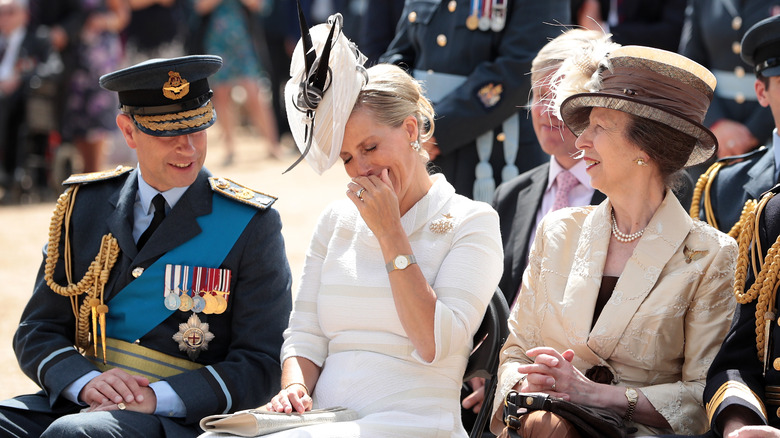
[[[369,111],[377,122],[397,128],[409,116],[417,119],[420,143],[433,137],[433,105],[425,97],[422,85],[401,68],[377,64],[368,69],[368,83],[360,90],[355,106]]]

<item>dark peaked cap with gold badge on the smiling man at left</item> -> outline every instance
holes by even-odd
[[[146,134],[186,135],[217,120],[207,78],[220,67],[211,55],[150,59],[101,76],[100,86],[119,93],[119,108]]]

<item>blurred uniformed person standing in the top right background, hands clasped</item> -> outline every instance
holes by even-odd
[[[704,119],[718,139],[718,158],[746,153],[772,134],[772,114],[756,101],[750,67],[740,59],[740,41],[751,26],[778,13],[777,0],[688,1],[680,53],[707,67],[718,80]],[[710,164],[688,172],[696,181]]]

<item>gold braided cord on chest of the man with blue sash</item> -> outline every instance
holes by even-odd
[[[76,346],[86,350],[90,345],[89,317],[92,315],[92,343],[97,355],[97,316],[100,315],[101,335],[103,340],[103,362],[106,360],[106,313],[108,306],[103,302],[103,292],[111,268],[114,267],[119,255],[119,244],[110,233],[103,236],[100,243],[100,251],[89,265],[84,277],[78,282],[72,280],[72,254],[70,244],[70,218],[76,201],[76,192],[79,186],[73,186],[65,190],[57,200],[54,214],[49,226],[49,244],[46,249],[46,265],[44,267],[44,280],[55,293],[70,298],[73,314],[76,317]],[[65,223],[65,276],[67,286],[61,286],[54,282],[54,269],[59,260],[59,243],[62,235],[62,225]],[[79,295],[85,294],[81,308],[78,307]],[[98,298],[99,297],[99,298]]]

